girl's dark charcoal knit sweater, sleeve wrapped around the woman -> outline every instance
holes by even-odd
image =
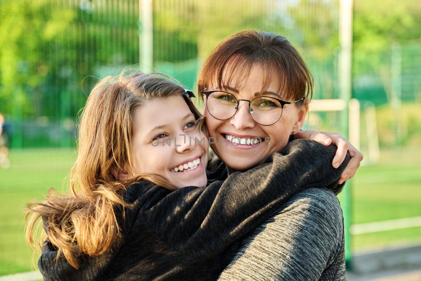
[[[229,249],[295,193],[309,187],[340,190],[331,163],[336,147],[297,140],[261,166],[208,187],[176,191],[141,181],[127,188],[121,236],[97,257],[72,268],[48,239],[38,262],[44,280],[215,280],[229,264]],[[48,233],[47,233],[48,235]]]

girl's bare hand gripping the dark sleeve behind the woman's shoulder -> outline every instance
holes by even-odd
[[[322,145],[330,145],[331,143],[336,145],[338,150],[336,150],[336,155],[332,161],[333,168],[338,168],[344,161],[346,153],[349,153],[351,160],[342,172],[338,184],[341,184],[342,182],[354,177],[357,169],[360,167],[363,158],[362,153],[360,153],[359,150],[351,145],[349,140],[345,139],[339,133],[304,130],[298,131],[294,136],[294,139],[312,139],[316,142],[320,142]]]

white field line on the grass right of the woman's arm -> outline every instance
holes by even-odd
[[[351,225],[351,234],[374,233],[387,230],[395,230],[421,226],[421,217],[408,217],[404,219],[391,219],[382,222],[368,222],[359,225]]]

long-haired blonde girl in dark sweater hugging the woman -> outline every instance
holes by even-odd
[[[229,246],[292,194],[337,186],[349,158],[334,169],[336,147],[299,140],[205,187],[208,142],[188,96],[140,72],[93,88],[71,193],[29,204],[29,243],[37,248],[40,217],[47,236],[38,262],[45,280],[216,279]]]

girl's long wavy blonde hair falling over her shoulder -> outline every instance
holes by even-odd
[[[184,88],[162,74],[144,74],[126,68],[120,75],[108,76],[91,91],[80,117],[77,160],[71,170],[70,194],[53,188],[45,201],[27,204],[27,241],[39,250],[44,237],[35,241],[34,232],[43,218],[50,243],[74,268],[80,254],[96,256],[107,251],[120,234],[115,209],[129,206],[122,199],[126,187],[146,179],[162,187],[174,187],[156,174],[141,174],[124,182],[119,171],[133,169],[131,160],[132,116],[134,110],[152,99],[183,96],[203,130],[203,117]]]

